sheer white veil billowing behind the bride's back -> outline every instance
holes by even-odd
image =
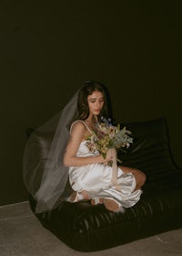
[[[35,198],[35,213],[56,208],[71,193],[63,156],[69,139],[68,126],[78,117],[79,91],[61,112],[36,129],[25,145],[23,178],[27,191]]]

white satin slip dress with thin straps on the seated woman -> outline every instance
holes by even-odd
[[[78,122],[78,121],[77,121]],[[80,121],[79,121],[80,122]],[[85,122],[81,121],[86,125]],[[72,124],[73,125],[73,124]],[[91,133],[90,129],[87,127]],[[90,153],[86,141],[82,141],[76,156],[96,156],[98,152]],[[104,164],[91,164],[69,167],[69,181],[71,187],[76,192],[86,190],[91,198],[113,198],[122,207],[130,208],[140,199],[142,190],[134,191],[136,179],[131,173],[125,174],[118,167],[117,170],[117,188],[112,184],[112,166]],[[120,187],[118,189],[118,187]]]

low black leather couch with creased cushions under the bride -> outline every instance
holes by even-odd
[[[76,251],[108,249],[182,227],[182,170],[171,155],[166,119],[123,125],[132,131],[134,144],[118,157],[147,175],[136,206],[115,213],[90,201],[64,202],[51,212],[35,214],[45,229]],[[35,199],[30,196],[29,201],[35,212]]]

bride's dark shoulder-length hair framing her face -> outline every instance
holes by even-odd
[[[89,115],[88,101],[87,96],[91,95],[94,91],[100,91],[104,97],[104,106],[102,111],[98,115],[98,120],[101,116],[106,118],[111,118],[111,108],[109,109],[110,99],[109,94],[106,89],[106,86],[98,81],[86,81],[84,86],[80,89],[78,100],[77,100],[77,110],[79,114],[79,118],[81,120],[86,120]]]

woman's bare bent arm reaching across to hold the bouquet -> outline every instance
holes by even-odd
[[[68,144],[66,146],[66,153],[64,155],[64,165],[66,166],[82,166],[91,164],[107,163],[112,160],[111,155],[107,155],[106,159],[102,155],[96,156],[76,156],[76,152],[80,143],[86,137],[86,126],[83,123],[77,122],[73,125]]]

